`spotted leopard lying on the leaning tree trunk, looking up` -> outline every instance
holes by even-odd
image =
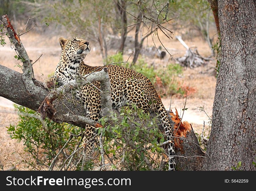
[[[143,74],[132,69],[119,65],[90,66],[84,63],[86,55],[90,52],[90,45],[83,38],[59,38],[61,45],[60,61],[56,66],[54,75],[44,80],[44,87],[49,89],[64,85],[79,75],[87,75],[92,72],[100,71],[103,67],[108,69],[112,108],[118,109],[122,106],[135,104],[137,108],[145,112],[155,112],[159,116],[162,129],[169,141],[167,146],[168,170],[175,170],[174,159],[174,136],[168,113],[158,95],[154,85]],[[95,88],[96,87],[96,88]],[[81,99],[86,115],[95,121],[99,121],[101,106],[100,83],[98,81],[82,86],[77,92]],[[86,125],[85,142],[87,143],[86,158],[92,158],[95,152],[95,141],[92,139],[97,136],[94,126]]]

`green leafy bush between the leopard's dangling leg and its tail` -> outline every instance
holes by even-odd
[[[113,113],[101,120],[104,150],[107,160],[116,161],[113,168],[119,170],[166,170],[162,159],[164,149],[159,143],[164,136],[159,131],[156,117],[132,106],[122,107],[120,117]],[[100,134],[100,128],[98,129]]]

